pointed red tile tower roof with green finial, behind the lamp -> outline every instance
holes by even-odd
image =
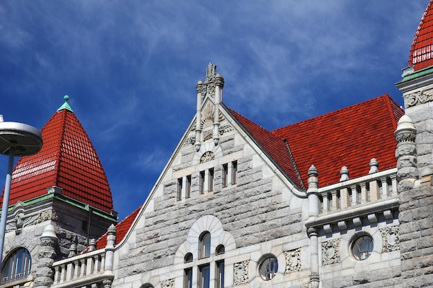
[[[113,198],[107,176],[89,136],[66,102],[41,133],[41,151],[21,157],[15,165],[10,205],[59,186],[63,195],[111,213]]]

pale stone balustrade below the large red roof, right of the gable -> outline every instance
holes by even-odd
[[[397,169],[390,169],[318,189],[322,196],[320,215],[396,198],[396,173]]]

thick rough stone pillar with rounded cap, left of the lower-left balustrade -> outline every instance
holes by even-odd
[[[48,288],[53,285],[53,262],[55,260],[55,245],[57,244],[57,236],[53,225],[48,224],[45,227],[42,236],[40,237],[38,263],[35,272],[35,280],[33,287]]]

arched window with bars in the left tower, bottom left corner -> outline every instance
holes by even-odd
[[[30,274],[31,267],[30,252],[25,248],[15,250],[3,264],[1,283],[26,278]]]

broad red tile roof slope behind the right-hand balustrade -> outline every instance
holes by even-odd
[[[305,186],[308,169],[319,171],[319,184],[340,181],[342,166],[349,177],[367,175],[371,158],[379,170],[396,167],[394,131],[403,110],[388,95],[279,128],[272,133],[288,142]]]

